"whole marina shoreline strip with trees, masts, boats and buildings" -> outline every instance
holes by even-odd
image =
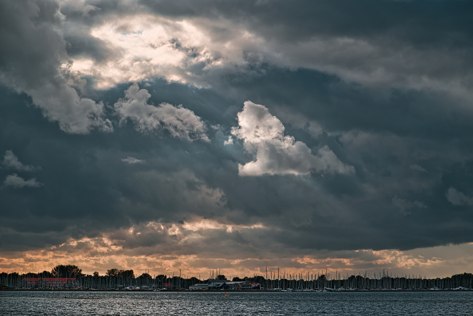
[[[116,270],[116,269],[115,269]],[[117,270],[118,271],[118,270]],[[148,271],[149,272],[149,271]],[[268,276],[253,275],[244,279],[226,280],[220,274],[211,272],[209,278],[189,276],[151,276],[148,272],[138,274],[117,273],[115,275],[63,275],[54,277],[43,273],[0,273],[0,284],[4,289],[77,289],[77,290],[123,290],[123,291],[166,291],[166,290],[239,290],[239,291],[465,291],[473,289],[472,273],[456,274],[446,278],[427,278],[420,275],[392,275],[388,272],[365,272],[363,275],[346,273],[292,273]]]

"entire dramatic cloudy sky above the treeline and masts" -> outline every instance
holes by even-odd
[[[472,19],[0,1],[0,270],[473,271]]]

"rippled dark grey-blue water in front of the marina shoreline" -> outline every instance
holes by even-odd
[[[0,315],[473,315],[473,292],[0,292]]]

